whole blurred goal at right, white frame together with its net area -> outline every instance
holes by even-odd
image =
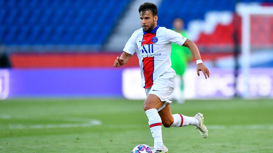
[[[273,88],[270,75],[258,68],[272,67],[273,63],[273,6],[238,4],[241,16],[241,83],[238,89],[244,98],[270,96]],[[264,69],[267,71],[266,69]],[[272,71],[272,69],[268,69]],[[256,72],[255,72],[256,71]],[[253,77],[259,76],[259,77]],[[257,83],[259,81],[259,83]],[[255,85],[254,85],[255,84]],[[260,88],[253,93],[252,88]]]

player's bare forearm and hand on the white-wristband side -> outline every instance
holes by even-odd
[[[191,54],[193,54],[195,60],[201,60],[201,55],[200,55],[199,50],[194,42],[187,39],[182,46],[190,49],[190,52],[191,52]],[[207,79],[207,77],[210,77],[210,71],[207,69],[207,67],[203,63],[197,64],[197,75],[198,76],[200,76],[199,71],[203,72],[206,79]]]

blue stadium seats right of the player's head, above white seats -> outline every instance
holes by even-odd
[[[192,1],[162,0],[158,8],[158,22],[160,26],[172,28],[172,21],[175,18],[183,18],[185,28],[188,28],[188,23],[191,20],[204,20],[205,14],[209,11],[235,11],[235,4],[238,2],[257,2],[257,3],[272,3],[272,0],[196,0]],[[189,7],[193,6],[194,7]]]

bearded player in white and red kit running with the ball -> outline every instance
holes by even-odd
[[[168,99],[174,91],[175,71],[171,68],[170,53],[172,43],[190,49],[197,60],[197,75],[202,71],[205,78],[210,73],[202,63],[197,46],[181,34],[159,27],[157,25],[157,6],[146,2],[140,5],[140,22],[142,28],[136,30],[127,41],[123,53],[116,57],[114,67],[120,67],[128,62],[136,52],[142,78],[142,87],[145,88],[147,98],[143,109],[149,120],[149,127],[154,138],[154,153],[167,153],[168,149],[163,144],[161,126],[183,127],[194,125],[200,134],[207,138],[207,128],[203,122],[203,115],[197,113],[194,117],[181,114],[172,114],[171,101]]]

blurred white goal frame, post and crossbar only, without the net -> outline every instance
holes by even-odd
[[[261,6],[258,4],[238,3],[236,12],[242,18],[241,33],[241,70],[243,76],[243,98],[249,98],[249,76],[250,76],[250,16],[251,15],[273,15],[273,6]]]

